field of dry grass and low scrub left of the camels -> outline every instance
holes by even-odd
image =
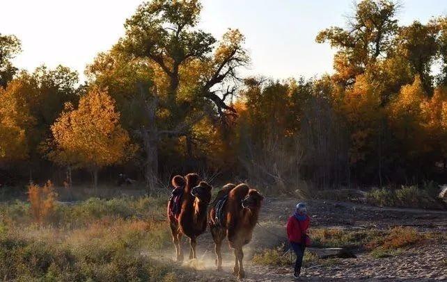
[[[159,221],[164,199],[91,199],[55,204],[33,224],[31,204],[0,204],[0,277],[7,281],[178,281],[147,254],[171,246]]]

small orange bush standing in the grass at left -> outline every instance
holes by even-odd
[[[48,181],[43,187],[36,184],[28,186],[28,200],[31,204],[30,211],[38,223],[44,222],[54,211],[56,192],[51,181]]]

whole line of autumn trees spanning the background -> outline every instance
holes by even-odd
[[[316,35],[334,74],[277,81],[243,77],[244,35],[201,30],[201,8],[142,3],[81,84],[63,66],[18,70],[20,41],[0,34],[0,180],[75,170],[96,186],[104,167],[148,190],[191,169],[283,192],[446,180],[447,17],[404,26],[397,3],[363,0]]]

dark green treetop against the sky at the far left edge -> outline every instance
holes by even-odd
[[[1,35],[0,33],[0,88],[5,88],[17,72],[11,59],[22,51],[21,42],[15,35]]]

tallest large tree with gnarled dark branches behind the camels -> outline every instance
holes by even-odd
[[[141,110],[136,112],[144,120],[134,122],[132,129],[146,154],[149,192],[158,176],[160,140],[184,137],[191,148],[194,124],[204,118],[217,124],[235,115],[227,99],[235,93],[237,69],[249,63],[242,48],[244,36],[229,30],[217,43],[210,33],[197,28],[200,12],[196,0],[143,3],[127,19],[125,37],[113,47],[112,58],[127,56],[128,63],[152,69],[133,82],[137,91],[133,89],[130,95],[130,103],[139,105]],[[103,75],[96,72],[95,78]]]

